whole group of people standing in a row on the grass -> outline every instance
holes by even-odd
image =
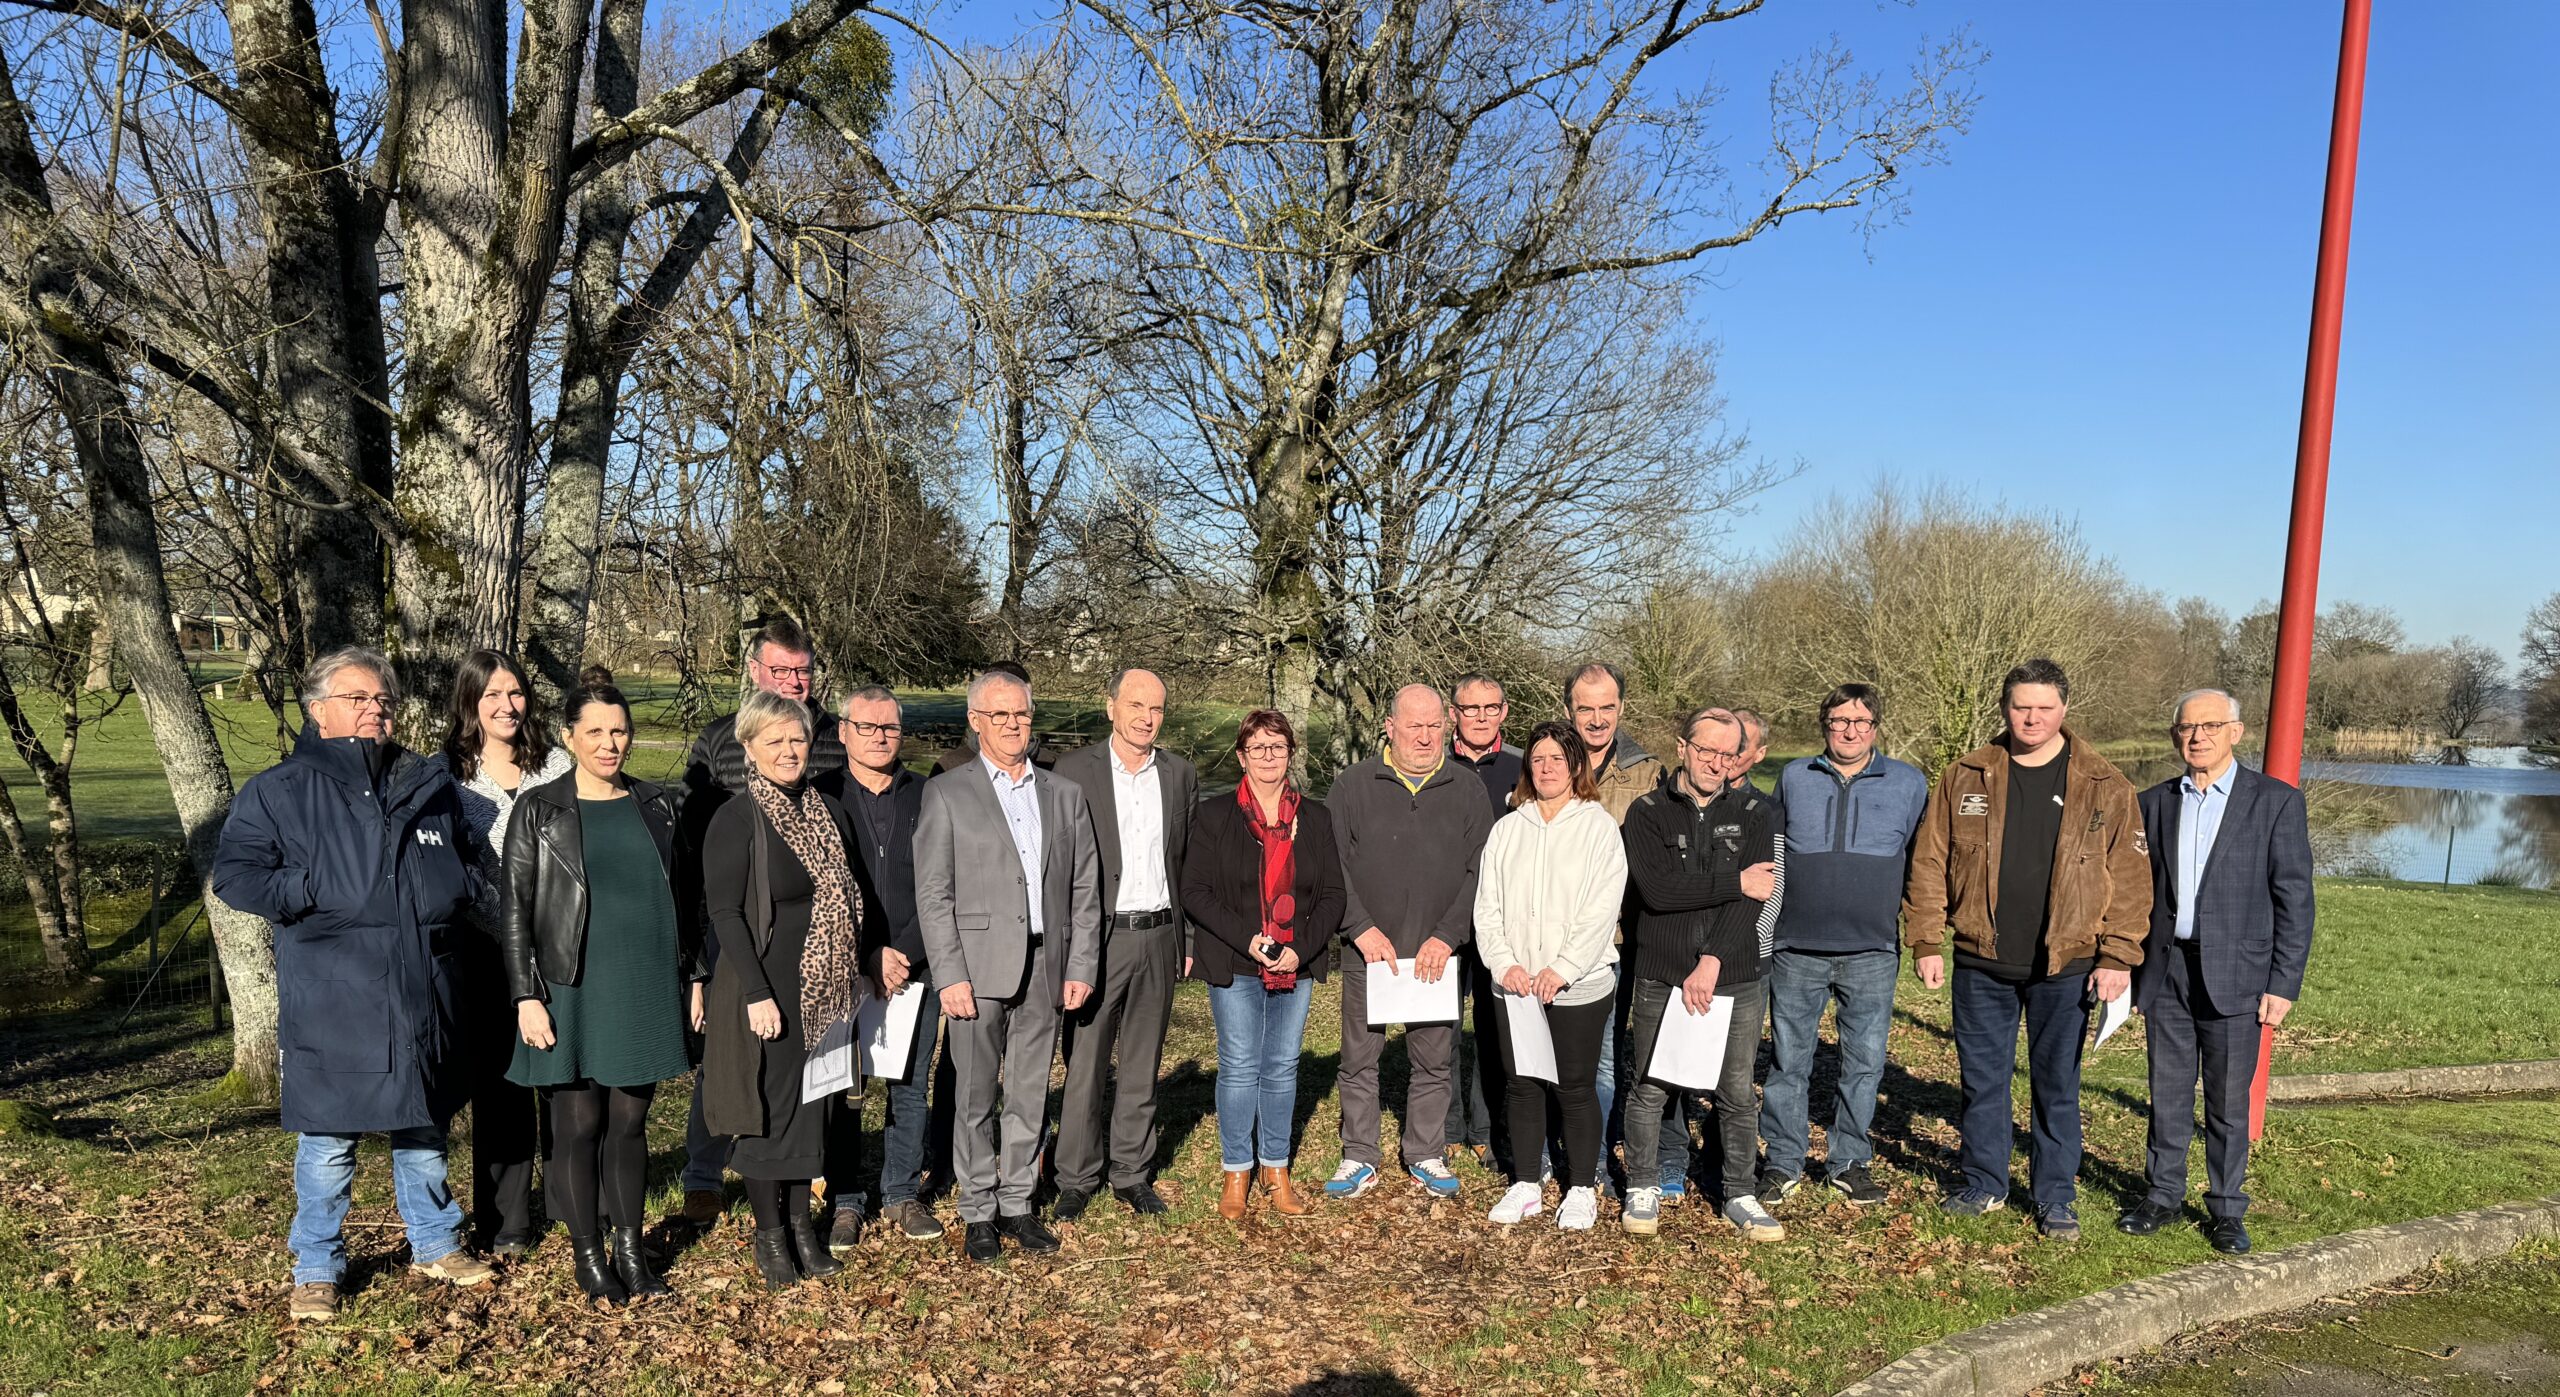
[[[1062,757],[1034,737],[1019,665],[978,675],[968,739],[929,780],[901,765],[891,691],[827,716],[814,673],[796,624],[758,632],[755,688],[660,791],[622,770],[632,714],[609,675],[548,724],[520,665],[474,652],[428,757],[392,739],[381,655],[312,665],[294,755],[241,791],[215,867],[220,898],[276,926],[297,1318],[338,1310],[361,1133],[392,1136],[420,1272],[479,1284],[494,1272],[476,1251],[525,1254],[543,1154],[579,1287],[663,1295],[640,1236],[643,1126],[655,1087],[689,1072],[684,1218],[714,1223],[737,1174],[773,1287],[840,1272],[873,1215],[945,1236],[937,1192],[975,1261],[1057,1251],[1050,1223],[1103,1190],[1165,1213],[1155,1098],[1185,977],[1208,988],[1219,1215],[1239,1220],[1257,1197],[1313,1208],[1293,1174],[1298,1062],[1313,985],[1341,970],[1341,1162],[1321,1192],[1359,1197],[1388,1164],[1393,1023],[1370,1021],[1372,967],[1457,977],[1475,1006],[1472,1052],[1459,1016],[1400,1026],[1400,1167],[1418,1187],[1459,1195],[1452,1156],[1472,1149],[1510,1180],[1495,1223],[1546,1210],[1554,1185],[1559,1228],[1592,1228],[1615,1197],[1618,1226],[1651,1236],[1690,1190],[1692,1121],[1713,1116],[1723,1220],[1779,1241],[1772,1210],[1815,1169],[1851,1203],[1887,1197],[1869,1128],[1900,954],[1935,990],[1951,936],[1964,1180],[1946,1208],[2007,1197],[2022,1018],[2033,1213],[2076,1236],[2081,1044],[2092,1008],[2132,993],[2156,1110],[2150,1197],[2120,1226],[2158,1231],[2184,1208],[2202,1077],[2207,1236],[2248,1249],[2255,1026],[2299,995],[2312,906],[2301,796],[2232,760],[2227,693],[2181,698],[2186,775],[2135,798],[2071,737],[2068,681],[2045,660],[2010,673],[2002,737],[1935,791],[1879,752],[1882,696],[1843,683],[1818,706],[1823,752],[1761,791],[1751,711],[1687,714],[1667,765],[1620,732],[1623,678],[1595,663],[1567,675],[1567,716],[1513,747],[1500,683],[1464,675],[1446,696],[1398,691],[1377,755],[1318,801],[1277,711],[1244,716],[1242,780],[1203,796],[1157,742],[1165,683],[1147,670],[1111,678],[1108,737]],[[873,1208],[860,1098],[812,1085],[814,1054],[845,1041],[860,998],[901,993],[916,1039],[886,1090]],[[1812,1162],[1833,1003],[1838,1090]],[[1674,1013],[1728,1013],[1713,1093],[1651,1072]],[[1533,1069],[1513,1016],[1544,1023]],[[463,1103],[476,1228],[445,1180]]]

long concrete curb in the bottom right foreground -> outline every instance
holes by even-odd
[[[1912,1348],[1838,1397],[2012,1397],[2194,1328],[2294,1310],[2435,1261],[2504,1256],[2537,1236],[2560,1236],[2560,1195],[2204,1261]]]

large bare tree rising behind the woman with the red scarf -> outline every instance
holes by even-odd
[[[1713,92],[1667,95],[1651,67],[1759,8],[1080,5],[1080,110],[1101,118],[1091,143],[1055,133],[1052,161],[1108,210],[1091,217],[1124,248],[1142,427],[1167,453],[1152,476],[1198,481],[1188,527],[1242,571],[1249,601],[1226,629],[1280,709],[1303,719],[1321,698],[1339,732],[1359,727],[1364,660],[1411,663],[1393,622],[1480,619],[1408,599],[1446,576],[1434,540],[1505,555],[1531,519],[1462,486],[1505,453],[1449,432],[1467,414],[1513,430],[1513,468],[1541,450],[1536,422],[1505,412],[1531,381],[1526,325],[1661,294],[1656,269],[1800,215],[1892,217],[1902,177],[1964,125],[1971,49],[1925,54],[1900,92],[1820,51],[1769,84],[1769,179],[1738,187],[1715,159]],[[1687,466],[1702,504],[1725,491],[1723,463],[1710,443]],[[1633,481],[1664,473],[1646,461]],[[1572,583],[1605,563],[1541,545],[1508,558],[1567,565],[1549,578],[1556,612],[1585,619]]]

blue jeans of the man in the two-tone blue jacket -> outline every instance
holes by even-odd
[[[1830,1103],[1830,1174],[1866,1164],[1874,1146],[1884,1080],[1884,1034],[1894,1023],[1894,977],[1902,952],[1810,954],[1777,952],[1769,962],[1769,1082],[1761,1090],[1761,1144],[1769,1169],[1805,1172],[1812,1054],[1823,1041],[1823,1006],[1841,1000],[1841,1087]]]

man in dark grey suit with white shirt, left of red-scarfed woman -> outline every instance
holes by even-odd
[[[1190,936],[1183,921],[1183,847],[1201,773],[1155,745],[1165,727],[1165,681],[1147,670],[1111,675],[1103,698],[1111,737],[1057,757],[1057,775],[1083,788],[1103,855],[1103,980],[1083,1013],[1068,1016],[1068,1098],[1057,1108],[1060,1223],[1073,1223],[1103,1187],[1132,1213],[1170,1213],[1155,1167],[1155,1075]],[[1103,1075],[1119,1046],[1119,1077],[1103,1108]],[[1108,1136],[1108,1149],[1106,1149]]]

